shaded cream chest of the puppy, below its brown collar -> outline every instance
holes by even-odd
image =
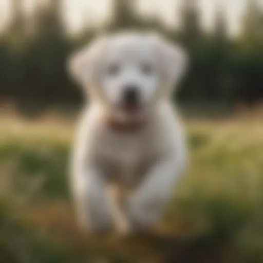
[[[104,136],[97,153],[106,178],[135,187],[151,165],[148,143],[143,136]]]

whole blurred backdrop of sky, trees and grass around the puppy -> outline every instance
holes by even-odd
[[[83,96],[66,61],[129,28],[190,54],[174,99],[191,167],[158,238],[89,239],[67,186]],[[0,261],[263,262],[262,100],[261,0],[0,0]]]

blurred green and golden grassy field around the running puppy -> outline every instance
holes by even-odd
[[[125,240],[74,222],[73,122],[0,121],[0,262],[263,262],[262,118],[186,122],[189,171],[155,235]]]

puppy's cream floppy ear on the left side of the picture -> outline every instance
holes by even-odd
[[[68,69],[71,76],[81,85],[94,85],[98,72],[99,57],[102,54],[105,36],[92,41],[88,46],[71,55]]]

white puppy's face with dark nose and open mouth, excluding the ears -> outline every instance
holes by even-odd
[[[161,84],[153,43],[141,37],[112,39],[101,66],[101,88],[117,110],[134,115],[153,101]]]

